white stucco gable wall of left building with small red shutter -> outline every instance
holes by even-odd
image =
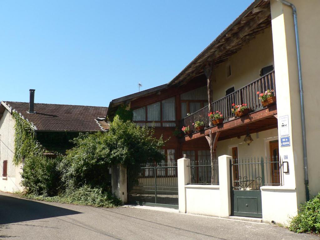
[[[14,156],[14,124],[12,115],[5,110],[0,120],[0,191],[22,191],[20,186],[21,166],[13,164]],[[3,177],[3,161],[8,161],[7,177]]]

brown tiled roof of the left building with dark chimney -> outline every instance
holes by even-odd
[[[35,103],[36,113],[28,113],[28,102],[4,103],[28,120],[36,131],[103,131],[98,120],[105,118],[107,107]]]

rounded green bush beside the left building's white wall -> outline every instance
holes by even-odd
[[[24,161],[22,186],[28,194],[55,196],[60,189],[60,171],[58,165],[63,156],[47,158],[29,156]]]

